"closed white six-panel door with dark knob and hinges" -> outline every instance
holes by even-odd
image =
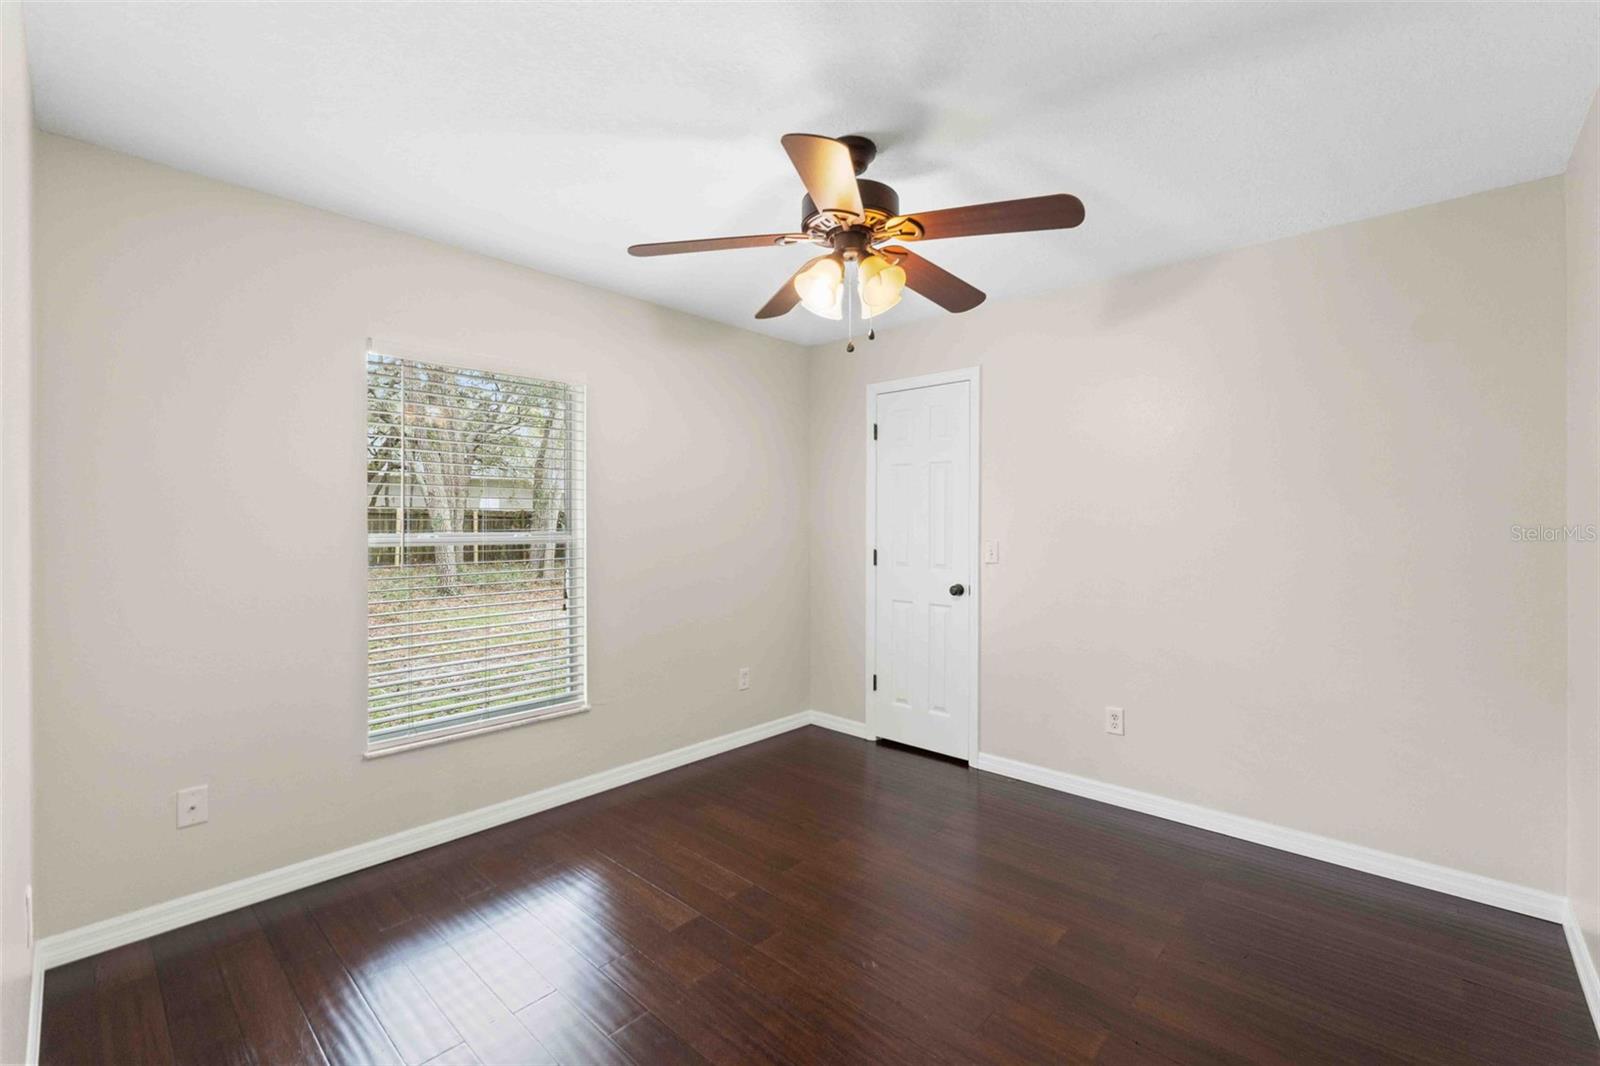
[[[970,759],[978,619],[971,381],[877,394],[869,722]]]

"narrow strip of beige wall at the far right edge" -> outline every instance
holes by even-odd
[[[1600,96],[1597,96],[1600,101]],[[1566,168],[1566,522],[1600,523],[1600,104]],[[1566,895],[1600,959],[1600,544],[1566,546]]]

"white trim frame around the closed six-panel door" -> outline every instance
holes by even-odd
[[[872,738],[877,739],[878,723],[874,720],[874,712],[872,712],[872,707],[877,703],[877,699],[872,698],[874,696],[872,675],[877,672],[878,667],[878,640],[877,640],[878,573],[877,567],[872,565],[872,552],[878,543],[878,458],[877,458],[877,440],[874,439],[872,426],[878,413],[878,397],[883,395],[885,392],[906,392],[909,389],[925,389],[928,386],[954,384],[957,381],[965,381],[970,386],[966,394],[966,402],[970,405],[966,418],[966,432],[968,432],[968,448],[971,455],[971,477],[968,479],[968,488],[966,488],[968,491],[966,514],[970,515],[968,544],[973,554],[973,568],[971,568],[973,581],[971,587],[968,589],[968,594],[971,595],[971,611],[973,611],[973,624],[971,624],[973,639],[971,639],[971,650],[968,653],[970,658],[968,669],[971,669],[971,683],[973,683],[971,688],[973,720],[968,725],[966,762],[968,765],[978,765],[978,719],[979,719],[979,709],[982,706],[982,701],[979,698],[982,690],[979,680],[981,674],[979,664],[982,663],[982,656],[979,655],[979,651],[982,647],[982,627],[984,627],[982,599],[981,599],[984,546],[982,541],[979,541],[979,533],[982,530],[982,523],[979,520],[979,511],[982,503],[982,491],[981,491],[982,456],[979,451],[982,442],[982,432],[979,426],[979,413],[982,411],[982,392],[979,387],[981,373],[978,367],[966,367],[965,370],[946,370],[936,375],[922,375],[917,378],[899,378],[896,381],[878,381],[867,386],[867,434],[866,434],[867,437],[867,544],[866,544],[867,671],[866,677],[862,679],[862,690],[864,690],[862,695],[866,699],[867,733],[870,733]]]

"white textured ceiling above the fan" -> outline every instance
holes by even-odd
[[[1080,285],[1565,170],[1594,3],[27,3],[45,130],[752,319],[810,254],[782,133],[866,133],[902,208],[1074,192],[1070,232],[928,242],[990,293]],[[883,325],[944,312],[909,296]]]

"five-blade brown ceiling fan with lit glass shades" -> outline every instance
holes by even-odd
[[[1083,202],[1064,192],[901,214],[894,189],[882,181],[858,178],[878,154],[877,144],[867,138],[789,133],[782,138],[782,146],[806,190],[800,200],[800,232],[669,240],[634,245],[627,250],[629,254],[675,256],[685,251],[813,243],[829,251],[795,271],[755,317],[776,319],[794,311],[795,304],[824,319],[845,317],[851,303],[845,280],[853,267],[854,290],[862,314],[870,320],[898,304],[904,288],[922,293],[952,312],[971,311],[984,303],[982,290],[941,271],[898,242],[1072,229],[1083,221]],[[850,351],[854,351],[854,344]]]

